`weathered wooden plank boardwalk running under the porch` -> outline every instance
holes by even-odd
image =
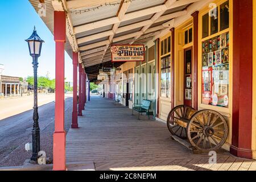
[[[94,162],[96,170],[256,170],[256,162],[217,154],[192,154],[172,140],[163,123],[148,120],[111,100],[92,96],[79,129],[67,134],[67,163]]]

